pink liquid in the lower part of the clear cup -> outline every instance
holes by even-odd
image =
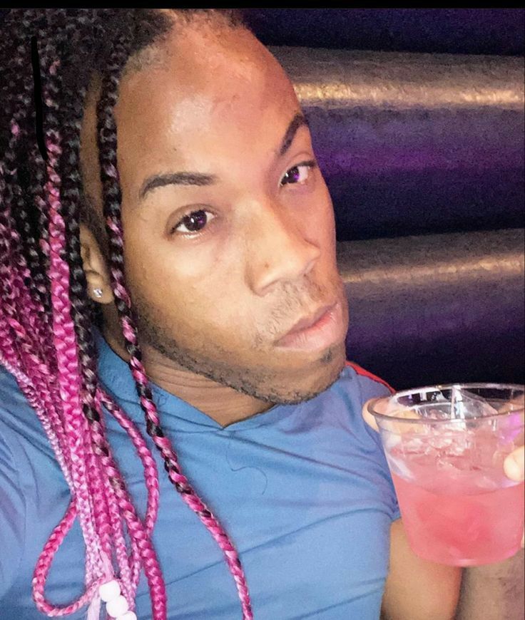
[[[499,562],[520,548],[524,525],[524,483],[487,488],[480,472],[454,479],[434,458],[417,459],[408,481],[392,473],[409,543],[420,557],[455,566]],[[410,461],[405,461],[410,467]],[[498,470],[499,473],[499,470]]]

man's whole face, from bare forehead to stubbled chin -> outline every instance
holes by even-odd
[[[196,20],[123,77],[115,114],[143,347],[265,401],[327,388],[347,330],[332,203],[277,61],[247,31]]]

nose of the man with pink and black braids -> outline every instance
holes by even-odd
[[[246,251],[248,286],[263,296],[283,282],[297,282],[309,274],[320,257],[321,249],[302,230],[297,217],[279,205],[257,205],[250,222]]]

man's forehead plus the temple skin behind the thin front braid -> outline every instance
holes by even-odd
[[[255,148],[272,155],[299,110],[285,72],[245,29],[185,24],[129,66],[115,108],[124,199],[136,197],[143,180],[158,173],[220,175],[237,167],[243,174]],[[95,81],[81,128],[81,171],[83,190],[101,213],[99,95]]]

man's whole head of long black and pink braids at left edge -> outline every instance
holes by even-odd
[[[196,9],[200,10],[204,9]],[[238,25],[238,16],[227,12]],[[126,289],[113,108],[129,59],[160,41],[172,25],[165,11],[148,9],[11,9],[2,25],[0,51],[6,61],[0,66],[0,363],[14,375],[38,415],[71,492],[66,514],[51,532],[34,570],[34,601],[49,616],[66,616],[88,605],[88,618],[98,618],[99,588],[113,580],[133,611],[141,571],[148,582],[153,619],[163,620],[167,614],[163,574],[151,541],[159,498],[156,461],[148,440],[98,378],[94,314],[81,262],[85,198],[80,132],[86,93],[98,76],[105,253],[146,431],[162,455],[169,480],[223,549],[243,618],[252,617],[235,547],[193,490],[163,433]],[[111,453],[107,415],[126,430],[141,459],[148,491],[143,518]],[[44,594],[46,578],[77,519],[86,543],[85,589],[76,601],[56,606]]]

